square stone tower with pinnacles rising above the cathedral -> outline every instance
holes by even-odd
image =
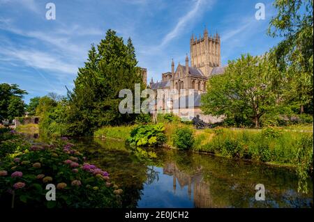
[[[209,77],[213,68],[221,66],[220,61],[220,36],[218,33],[209,36],[204,29],[203,38],[194,35],[190,38],[190,60],[191,66],[199,68],[204,76]]]

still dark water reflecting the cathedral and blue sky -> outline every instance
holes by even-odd
[[[145,161],[120,141],[71,142],[124,189],[124,207],[313,207],[313,181],[298,193],[291,168],[161,148]],[[256,184],[264,184],[264,201],[255,200]]]

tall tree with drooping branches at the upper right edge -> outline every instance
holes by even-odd
[[[285,73],[287,102],[313,106],[313,0],[276,0],[276,16],[269,35],[283,40],[271,50],[281,72]],[[313,108],[312,108],[313,112]]]

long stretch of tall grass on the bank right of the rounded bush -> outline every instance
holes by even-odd
[[[211,137],[206,143],[202,142]],[[214,129],[195,136],[193,150],[263,162],[297,164],[300,141],[313,146],[313,133],[285,132],[278,129]],[[198,141],[198,142],[197,142]],[[313,162],[312,162],[313,166]]]

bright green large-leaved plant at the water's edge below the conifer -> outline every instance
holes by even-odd
[[[127,143],[134,146],[161,146],[167,141],[165,127],[156,125],[138,125],[131,132]]]

